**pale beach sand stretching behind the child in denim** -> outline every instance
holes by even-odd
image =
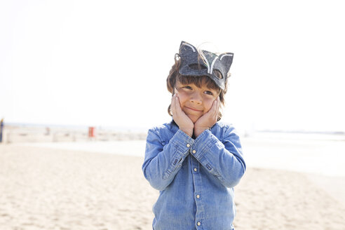
[[[158,191],[140,156],[0,145],[0,229],[151,229]],[[241,229],[345,229],[345,205],[307,173],[248,168]],[[325,179],[325,178],[324,178]]]

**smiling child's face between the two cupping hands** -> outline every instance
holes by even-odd
[[[218,97],[217,90],[208,88],[205,82],[198,88],[194,83],[182,84],[177,81],[175,93],[180,99],[182,111],[193,123],[211,109],[212,103]]]

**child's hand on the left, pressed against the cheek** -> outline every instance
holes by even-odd
[[[191,137],[193,135],[194,123],[189,119],[187,114],[182,111],[180,100],[176,93],[172,96],[170,110],[172,112],[172,119],[177,123],[180,130]]]

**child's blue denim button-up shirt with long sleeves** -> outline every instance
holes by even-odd
[[[151,128],[142,171],[159,190],[153,229],[234,229],[234,186],[245,161],[232,126],[217,122],[195,140],[173,121]]]

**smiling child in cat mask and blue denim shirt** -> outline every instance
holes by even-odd
[[[153,229],[234,229],[234,187],[245,172],[234,127],[219,122],[233,53],[182,41],[167,78],[170,123],[151,128],[142,165],[159,190]],[[235,111],[234,111],[235,112]]]

